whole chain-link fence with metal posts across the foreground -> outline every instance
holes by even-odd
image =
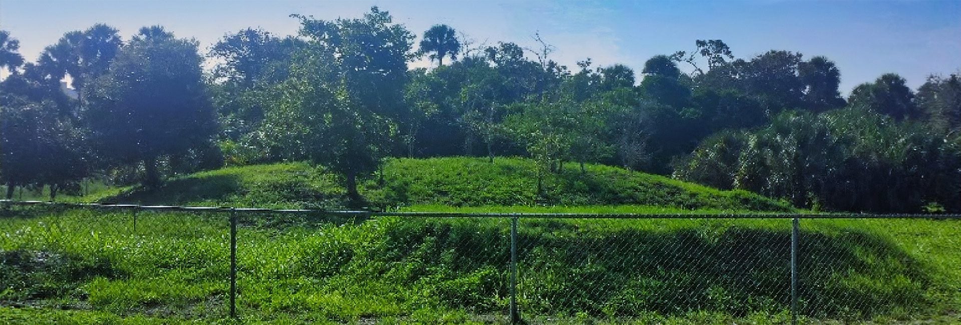
[[[343,322],[961,320],[958,215],[3,204],[0,306]]]

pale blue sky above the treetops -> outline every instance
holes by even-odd
[[[246,27],[294,35],[298,26],[290,13],[356,17],[373,5],[417,35],[443,23],[477,43],[533,46],[530,36],[539,32],[556,47],[552,58],[571,67],[592,58],[639,71],[654,55],[692,50],[695,39],[720,38],[739,58],[771,49],[830,58],[841,69],[843,93],[887,72],[917,87],[931,73],[961,68],[961,1],[0,0],[0,29],[20,40],[20,52],[30,60],[63,33],[94,23],[119,29],[125,39],[141,26],[160,24],[196,38],[206,52],[219,37]]]

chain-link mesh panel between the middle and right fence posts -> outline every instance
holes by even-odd
[[[522,312],[553,321],[788,310],[789,222],[522,221]]]

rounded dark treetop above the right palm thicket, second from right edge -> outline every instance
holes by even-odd
[[[917,117],[919,111],[913,102],[914,91],[898,74],[884,74],[875,82],[854,87],[850,92],[850,104],[887,114],[897,120]]]

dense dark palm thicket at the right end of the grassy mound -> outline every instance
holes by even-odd
[[[714,136],[676,175],[796,206],[917,213],[929,202],[961,208],[959,167],[956,139],[850,108],[785,112],[767,128]]]

